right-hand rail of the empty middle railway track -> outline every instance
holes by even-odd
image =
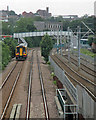
[[[43,97],[43,103],[44,103],[44,111],[45,111],[45,119],[49,120],[49,112],[48,112],[48,105],[47,105],[47,99],[46,99],[46,94],[45,94],[45,88],[44,88],[44,83],[43,83],[43,77],[40,69],[40,61],[37,54],[37,63],[38,63],[38,70],[39,70],[39,78],[40,78],[40,84],[41,84],[41,91],[42,91],[42,97]]]

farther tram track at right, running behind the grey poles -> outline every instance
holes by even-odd
[[[64,58],[66,58],[68,60],[68,55],[65,55]],[[78,66],[78,61],[71,56],[70,56],[70,58],[71,58],[70,62],[73,63],[75,66]],[[96,71],[95,70],[91,69],[91,67],[88,67],[88,65],[83,64],[83,62],[80,63],[80,64],[81,64],[81,66],[80,66],[81,70],[85,71],[86,73],[88,73],[89,75],[91,75],[94,78],[96,77]]]

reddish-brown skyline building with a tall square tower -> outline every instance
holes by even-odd
[[[49,7],[46,7],[46,10],[37,10],[36,12],[42,18],[49,18],[51,17],[51,13],[49,13]]]

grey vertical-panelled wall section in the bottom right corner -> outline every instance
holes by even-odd
[[[86,119],[96,120],[96,102],[94,102],[84,88],[77,85],[77,91],[79,113]]]

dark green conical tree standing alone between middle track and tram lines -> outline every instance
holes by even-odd
[[[52,39],[46,34],[41,41],[41,55],[44,57],[46,62],[48,61],[48,56],[52,47]]]

